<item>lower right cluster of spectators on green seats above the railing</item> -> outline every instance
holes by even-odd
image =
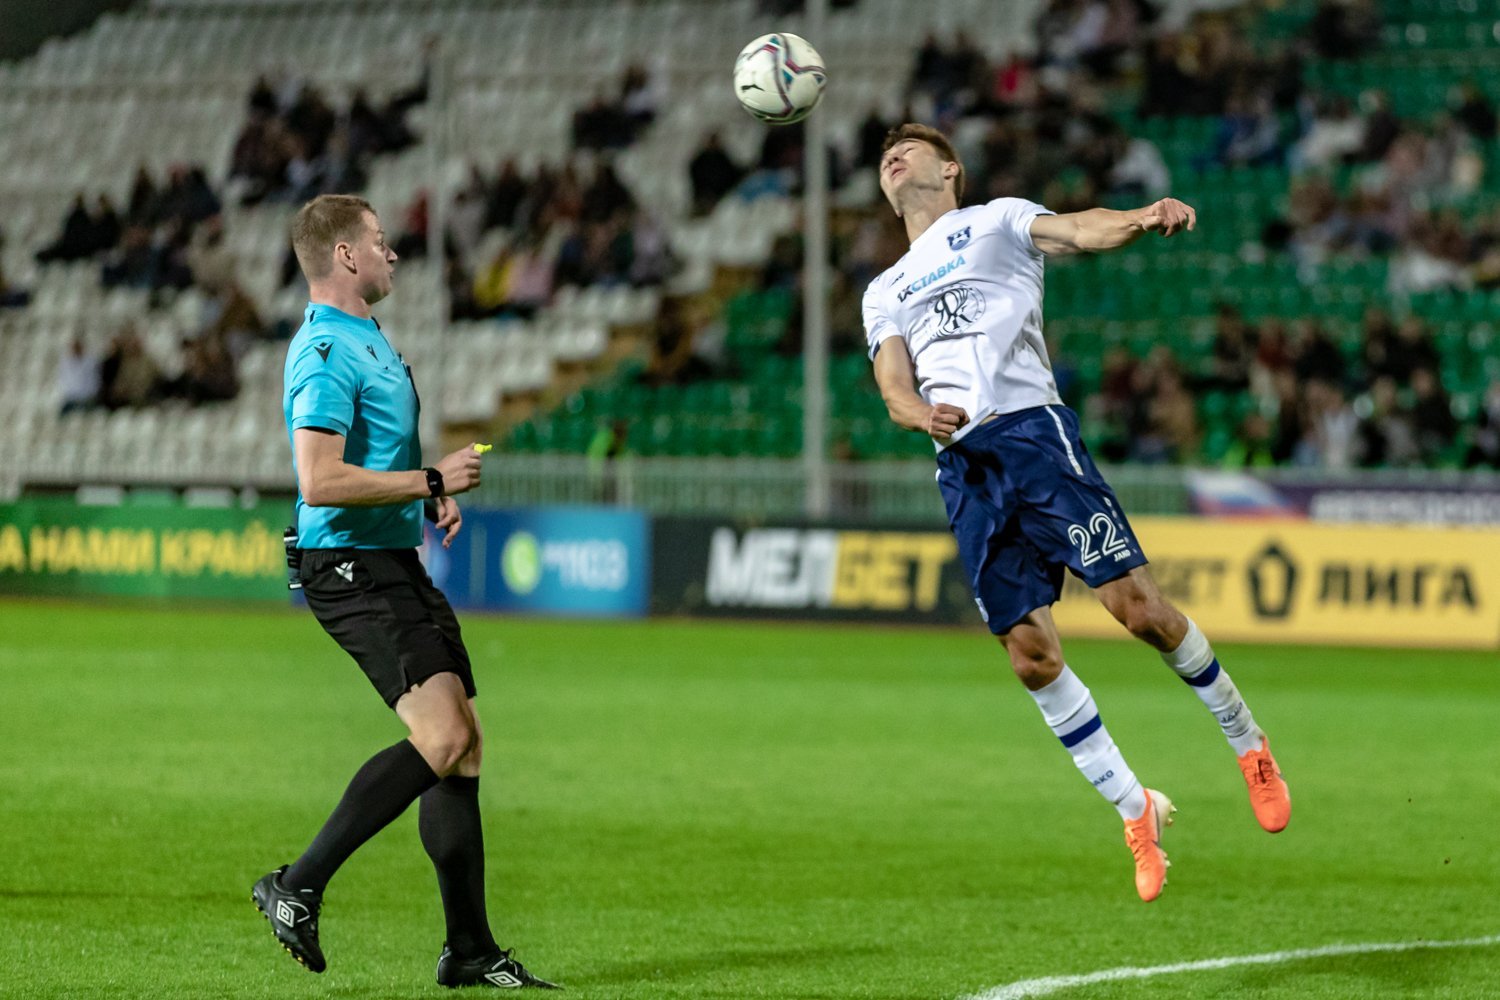
[[[1438,378],[1440,357],[1420,316],[1370,307],[1348,358],[1320,319],[1250,324],[1221,306],[1212,354],[1188,369],[1166,346],[1144,358],[1118,348],[1101,391],[1084,403],[1095,448],[1110,462],[1194,462],[1203,456],[1198,400],[1215,397],[1236,420],[1221,442],[1226,466],[1410,468],[1494,465],[1490,436],[1462,448]],[[1240,405],[1234,405],[1240,400]],[[1482,421],[1494,423],[1500,379]]]

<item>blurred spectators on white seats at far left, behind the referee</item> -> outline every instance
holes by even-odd
[[[342,108],[302,78],[278,87],[262,76],[246,100],[226,193],[210,186],[200,165],[176,165],[160,183],[140,168],[123,210],[108,195],[80,192],[57,238],[38,252],[38,262],[98,262],[105,288],[153,295],[196,288],[206,307],[198,330],[166,358],[154,357],[129,322],[111,334],[102,352],[75,339],[57,376],[62,412],[234,399],[237,358],[250,342],[274,331],[237,279],[224,238],[225,201],[300,202],[322,192],[360,189],[370,157],[417,141],[405,118],[426,100],[428,76],[424,69],[416,85],[382,103],[356,91]],[[16,294],[8,295],[0,279],[0,304]]]

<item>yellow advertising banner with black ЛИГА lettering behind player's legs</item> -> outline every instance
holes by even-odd
[[[1500,529],[1140,517],[1152,576],[1215,640],[1500,648]],[[1064,636],[1120,636],[1071,574]]]

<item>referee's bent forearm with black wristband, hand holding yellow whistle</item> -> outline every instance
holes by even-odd
[[[430,496],[422,469],[378,472],[344,460],[344,435],[321,427],[297,427],[297,489],[309,507],[386,507]],[[480,457],[471,447],[446,454],[434,468],[442,474],[444,493],[478,486]]]

